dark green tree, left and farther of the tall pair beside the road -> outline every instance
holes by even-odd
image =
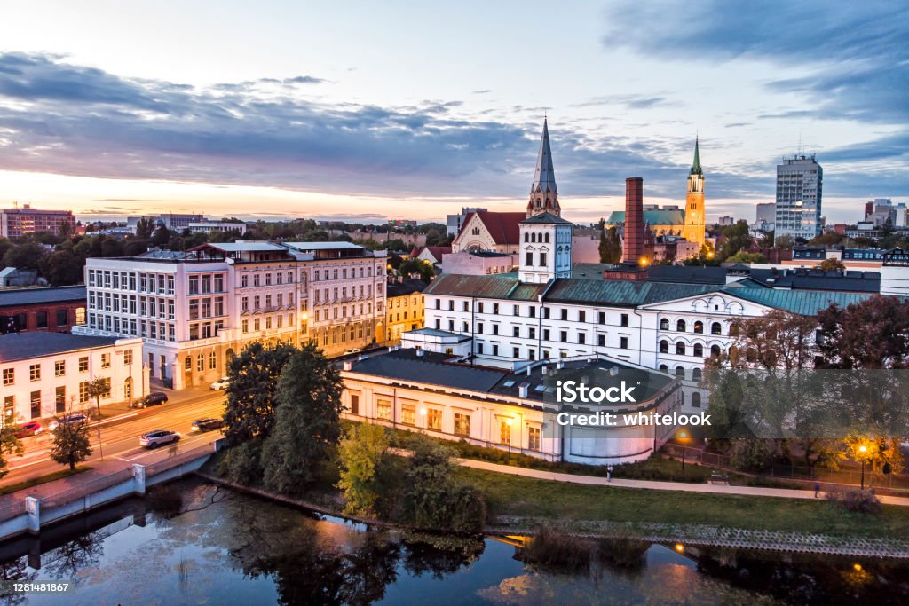
[[[291,354],[292,345],[249,345],[227,368],[225,437],[231,446],[265,438],[275,422],[278,379]]]

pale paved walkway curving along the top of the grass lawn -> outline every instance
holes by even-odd
[[[784,497],[787,499],[814,499],[814,491],[797,491],[788,488],[763,488],[759,486],[726,486],[721,484],[693,484],[687,482],[654,482],[651,480],[624,480],[613,478],[606,482],[604,477],[592,475],[576,475],[574,473],[543,472],[513,465],[499,465],[497,463],[474,461],[474,459],[458,459],[464,467],[481,469],[487,472],[510,473],[521,475],[525,478],[537,480],[553,480],[555,482],[573,482],[575,484],[593,484],[595,486],[614,486],[616,488],[643,488],[653,491],[680,491],[680,492],[710,492],[713,494],[743,494],[756,497]],[[878,499],[886,505],[902,505],[909,507],[909,497],[890,497],[878,495]]]

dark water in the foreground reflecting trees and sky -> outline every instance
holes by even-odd
[[[176,487],[179,513],[135,499],[0,544],[4,579],[74,587],[0,603],[909,603],[909,562],[626,541],[565,571],[494,538],[369,531],[198,480]]]

